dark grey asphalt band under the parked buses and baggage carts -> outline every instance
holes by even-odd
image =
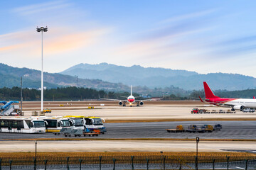
[[[205,133],[169,133],[167,128],[176,128],[176,125],[223,125],[221,131]],[[197,121],[197,122],[154,122],[154,123],[105,123],[105,135],[87,138],[183,138],[190,139],[196,136],[205,139],[256,139],[256,121]],[[63,138],[52,133],[46,134],[18,134],[0,133],[0,140],[29,139],[29,138]]]

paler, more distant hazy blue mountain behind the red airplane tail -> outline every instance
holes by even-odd
[[[171,85],[185,90],[203,89],[207,81],[212,89],[255,89],[256,79],[241,74],[210,73],[198,74],[186,70],[117,66],[114,64],[77,64],[61,74],[77,75],[83,79],[102,79],[114,83],[132,84],[133,86],[169,87]]]

